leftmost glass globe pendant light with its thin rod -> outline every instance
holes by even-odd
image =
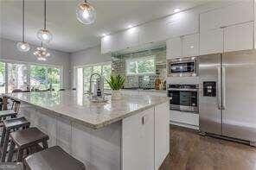
[[[25,42],[25,0],[22,1],[22,41],[16,47],[21,52],[28,52],[30,49],[29,43]]]

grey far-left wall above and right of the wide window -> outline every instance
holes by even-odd
[[[46,61],[40,61],[35,58],[33,52],[35,46],[30,45],[28,53],[21,53],[16,48],[16,41],[0,38],[0,60],[13,60],[28,63],[48,64],[63,67],[63,87],[70,88],[70,54],[50,50],[51,56]]]

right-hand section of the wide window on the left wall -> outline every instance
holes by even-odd
[[[52,88],[56,91],[60,89],[60,72],[61,69],[51,66],[30,66],[30,85],[31,88],[39,90],[47,90],[52,85]]]

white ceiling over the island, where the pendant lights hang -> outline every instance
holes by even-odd
[[[97,12],[96,22],[83,25],[76,20],[75,9],[78,0],[48,0],[47,27],[53,33],[54,40],[47,46],[63,52],[76,52],[100,44],[102,34],[150,22],[162,16],[168,16],[176,8],[189,9],[202,0],[100,0],[89,1]],[[22,39],[22,0],[0,0],[1,37],[13,41]],[[25,1],[26,41],[40,45],[36,32],[43,26],[43,0]]]

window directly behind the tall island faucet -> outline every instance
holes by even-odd
[[[83,69],[82,75],[80,69]],[[111,63],[102,63],[93,66],[80,66],[76,69],[76,86],[77,90],[83,89],[84,92],[87,92],[90,87],[90,77],[92,73],[99,73],[104,78],[104,88],[110,89],[109,85],[106,82],[112,73],[112,64]],[[83,86],[81,87],[81,76],[83,78]],[[97,77],[93,77],[93,82],[95,82]]]

